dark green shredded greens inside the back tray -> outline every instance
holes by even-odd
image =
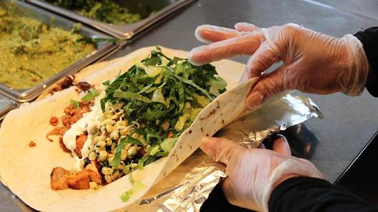
[[[106,23],[135,23],[143,18],[141,14],[132,14],[125,7],[113,0],[46,0],[56,6],[75,11],[82,16]]]

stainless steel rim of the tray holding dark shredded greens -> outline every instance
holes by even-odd
[[[155,9],[159,9],[156,13],[151,14],[147,18],[144,18],[141,21],[136,23],[128,24],[111,24],[103,23],[100,21],[95,21],[86,16],[81,16],[74,11],[69,11],[68,9],[63,9],[53,4],[49,4],[45,1],[40,0],[26,0],[37,6],[41,6],[44,9],[55,12],[56,14],[61,14],[68,18],[72,18],[75,21],[80,21],[81,23],[86,23],[88,26],[97,28],[100,31],[108,33],[111,36],[114,36],[119,39],[131,39],[136,36],[138,33],[148,30],[153,24],[162,21],[165,18],[168,18],[170,15],[174,14],[180,9],[183,9],[188,4],[192,3],[195,0],[128,0],[123,1],[123,4],[137,4],[138,8],[143,8],[144,6],[150,6]],[[131,3],[130,3],[131,2]],[[136,10],[138,10],[136,8]]]

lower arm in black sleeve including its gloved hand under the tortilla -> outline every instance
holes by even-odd
[[[225,164],[228,173],[201,211],[239,211],[235,206],[283,212],[378,211],[377,206],[325,181],[310,161],[292,157],[285,137],[277,137],[273,150],[247,149],[228,139],[210,137],[203,138],[200,148]]]

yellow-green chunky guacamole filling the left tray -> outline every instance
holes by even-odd
[[[78,28],[64,31],[0,5],[0,83],[32,88],[96,50]]]

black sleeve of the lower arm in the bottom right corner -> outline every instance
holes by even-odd
[[[272,191],[269,211],[378,211],[377,206],[330,182],[312,177],[294,177]]]

